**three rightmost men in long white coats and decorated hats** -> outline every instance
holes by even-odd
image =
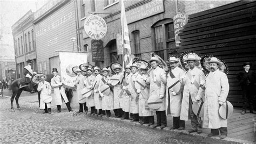
[[[176,57],[170,57],[169,61],[171,70],[167,75],[166,114],[173,116],[172,129],[184,129],[184,121],[191,119],[192,129],[188,130],[189,133],[202,133],[201,128],[204,127],[211,128],[208,136],[220,134],[221,139],[226,138],[227,119],[220,117],[219,107],[226,102],[229,84],[226,74],[219,70],[222,63],[212,57],[208,61],[211,71],[205,76],[195,65],[198,62],[195,55],[188,55],[185,61],[189,67],[187,71],[178,67]],[[175,88],[179,84],[180,87]],[[204,116],[201,119],[193,112],[192,105],[199,105],[202,101]]]

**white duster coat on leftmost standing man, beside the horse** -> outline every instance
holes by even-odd
[[[51,95],[51,85],[49,82],[40,82],[37,87],[37,91],[41,91],[40,93],[40,109],[45,109],[44,100],[46,97]],[[48,107],[51,108],[51,107]]]

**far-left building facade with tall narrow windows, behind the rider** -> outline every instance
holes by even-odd
[[[28,11],[12,25],[14,38],[17,78],[24,77],[26,60],[32,60],[32,69],[37,71],[35,30],[33,28],[33,12]]]

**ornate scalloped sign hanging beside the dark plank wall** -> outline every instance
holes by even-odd
[[[183,26],[187,24],[187,16],[185,13],[177,13],[173,18],[174,34],[176,46],[180,46],[180,37],[178,34],[180,30],[183,30]]]

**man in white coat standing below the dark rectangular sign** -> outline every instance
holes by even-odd
[[[95,74],[95,80],[93,81],[93,92],[94,92],[94,103],[95,103],[95,108],[98,110],[98,113],[95,114],[95,116],[100,116],[102,117],[105,115],[105,111],[102,111],[102,97],[99,95],[99,82],[102,80],[102,75],[99,74],[100,68],[95,67],[93,69],[94,74]]]

